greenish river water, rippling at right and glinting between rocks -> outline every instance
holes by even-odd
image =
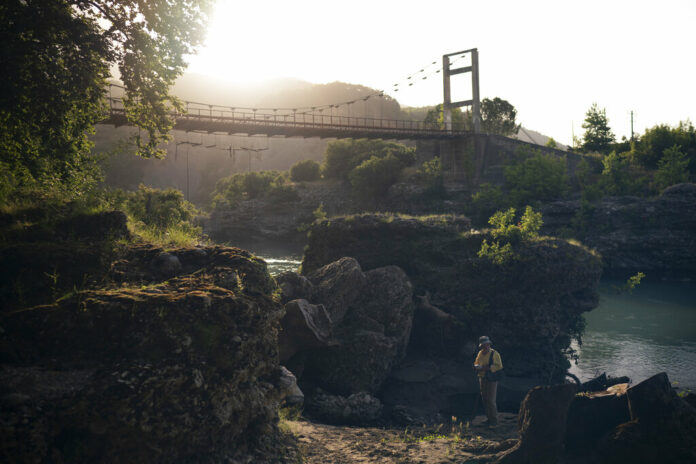
[[[294,271],[301,253],[258,250],[275,275]],[[603,280],[599,307],[585,314],[578,364],[570,372],[589,380],[602,372],[633,383],[665,371],[673,383],[696,390],[696,283],[643,282],[632,293],[624,282]]]

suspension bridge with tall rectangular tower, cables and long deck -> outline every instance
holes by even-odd
[[[452,68],[459,59],[471,57],[471,66]],[[455,57],[451,60],[451,57]],[[432,62],[431,64],[435,64]],[[380,138],[396,140],[456,140],[464,139],[479,131],[479,96],[478,96],[478,53],[476,49],[452,53],[443,56],[444,85],[444,127],[423,121],[382,119],[371,117],[354,117],[334,115],[334,108],[350,105],[354,101],[332,103],[308,108],[236,108],[211,103],[184,101],[182,110],[170,110],[174,121],[174,130],[186,132],[227,133],[230,135],[266,135],[282,137],[319,137],[319,138]],[[419,72],[423,72],[421,69]],[[434,73],[439,73],[436,69]],[[471,72],[473,98],[468,101],[451,102],[450,76]],[[412,79],[418,73],[409,76]],[[428,76],[421,77],[426,79]],[[392,90],[398,91],[399,84]],[[408,83],[413,85],[413,82]],[[113,96],[113,90],[123,92],[123,87],[110,84],[109,111],[101,124],[114,126],[130,125],[122,96]],[[361,100],[383,97],[384,91],[377,91]],[[452,130],[452,108],[472,106],[474,130]],[[329,114],[326,114],[324,111]]]

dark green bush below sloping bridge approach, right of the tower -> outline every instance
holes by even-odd
[[[504,171],[505,185],[516,205],[555,200],[568,188],[565,158],[543,155],[529,156]]]

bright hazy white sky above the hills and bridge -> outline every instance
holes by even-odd
[[[696,0],[218,0],[189,69],[389,90],[469,48],[479,50],[481,97],[510,101],[525,127],[563,143],[573,125],[582,134],[593,102],[617,138],[630,135],[631,110],[638,133],[696,123]],[[441,74],[422,75],[388,93],[406,106],[442,102]],[[468,98],[468,75],[456,79],[455,99]]]

